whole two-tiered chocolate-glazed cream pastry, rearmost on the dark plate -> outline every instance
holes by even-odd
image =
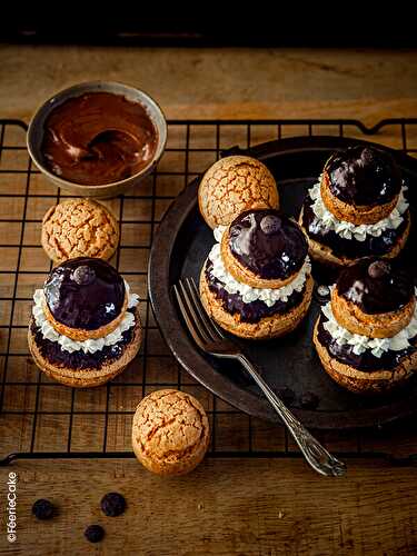
[[[357,146],[334,155],[299,218],[311,257],[332,266],[396,257],[410,228],[406,191],[389,153]]]

